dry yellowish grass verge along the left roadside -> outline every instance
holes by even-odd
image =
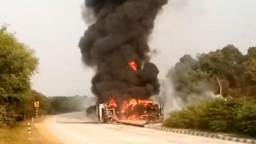
[[[57,144],[53,137],[44,137],[42,130],[39,130],[35,124],[40,124],[46,116],[34,120],[20,122],[11,128],[0,129],[0,144]],[[30,122],[30,135],[28,134],[28,122]]]

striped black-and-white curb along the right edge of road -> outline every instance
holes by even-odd
[[[217,135],[217,134],[209,134],[209,133],[203,133],[203,132],[197,132],[197,131],[187,131],[182,129],[170,129],[165,127],[156,127],[156,126],[145,126],[148,129],[156,129],[159,131],[168,131],[172,133],[181,133],[185,135],[195,135],[195,136],[201,136],[201,137],[208,137],[213,139],[222,139],[226,141],[235,141],[240,143],[249,143],[249,144],[256,144],[256,140],[254,139],[242,139],[238,137],[230,137],[230,136],[224,136],[224,135]]]

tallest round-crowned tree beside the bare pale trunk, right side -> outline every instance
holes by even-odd
[[[223,87],[223,94],[238,94],[233,89],[242,87],[243,72],[245,71],[245,57],[233,45],[228,45],[221,50],[209,52],[199,57],[199,65],[202,71],[211,75],[211,81],[215,87],[214,92],[219,92],[220,87],[216,79],[220,79]]]

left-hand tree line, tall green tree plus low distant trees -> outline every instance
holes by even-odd
[[[37,72],[38,61],[31,48],[6,27],[0,28],[0,127],[35,116],[36,101],[40,102],[39,114],[83,110],[87,96],[46,97],[31,88],[30,79]]]

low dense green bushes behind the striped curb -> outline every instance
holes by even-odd
[[[214,99],[171,112],[166,127],[256,136],[256,100]]]

